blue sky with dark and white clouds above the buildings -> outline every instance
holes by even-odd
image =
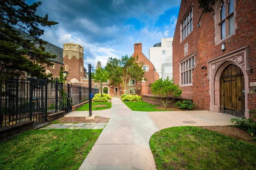
[[[37,0],[28,0],[31,4]],[[121,58],[141,42],[143,54],[161,38],[173,37],[180,0],[41,0],[38,14],[49,14],[58,25],[44,28],[41,37],[63,48],[84,47],[84,66],[104,67],[108,57]]]

